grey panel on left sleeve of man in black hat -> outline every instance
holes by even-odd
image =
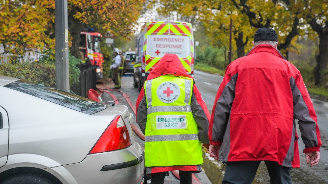
[[[223,135],[230,117],[232,102],[235,99],[237,78],[238,73],[231,77],[231,80],[226,84],[221,96],[216,102],[214,117],[212,117],[214,122],[212,129],[213,141],[223,141]]]

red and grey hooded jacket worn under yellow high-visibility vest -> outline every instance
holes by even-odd
[[[158,61],[152,72],[150,72],[150,74],[147,77],[147,80],[159,77],[161,75],[174,75],[174,76],[193,78],[192,76],[186,73],[186,70],[183,67],[180,59],[175,54],[165,54],[163,58]],[[209,146],[208,125],[210,120],[210,113],[196,85],[194,84],[193,86],[194,87],[192,90],[190,107],[198,127],[199,140],[200,142],[203,143],[205,147],[208,147]],[[146,122],[147,122],[147,107],[146,107],[145,90],[143,87],[138,96],[135,107],[137,108],[136,122],[139,125],[141,131],[145,134]],[[188,155],[178,155],[178,156],[188,157]],[[151,168],[147,168],[147,174],[174,171],[174,170],[194,171],[195,173],[198,173],[201,171],[201,166],[188,165],[188,166],[151,167]]]

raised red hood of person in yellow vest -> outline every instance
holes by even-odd
[[[179,57],[176,54],[165,54],[163,58],[158,61],[154,69],[149,73],[147,80],[168,74],[194,78],[187,74],[186,69],[183,67]]]

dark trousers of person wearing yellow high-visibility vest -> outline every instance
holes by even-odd
[[[180,184],[192,184],[191,171],[179,171]],[[167,176],[167,172],[154,173],[152,174],[151,184],[163,184],[164,178]]]

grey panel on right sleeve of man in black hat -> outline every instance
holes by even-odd
[[[311,118],[309,108],[304,102],[302,93],[295,84],[295,79],[291,77],[289,83],[293,93],[294,119],[298,120],[299,130],[305,147],[318,146],[317,123]]]

